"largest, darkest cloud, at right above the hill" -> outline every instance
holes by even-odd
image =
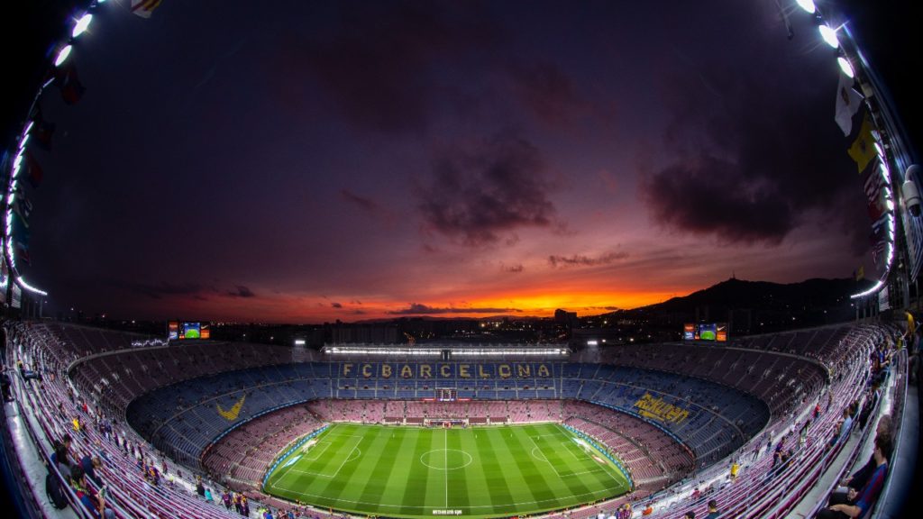
[[[832,121],[835,75],[829,85],[805,85],[797,75],[764,73],[785,70],[781,59],[751,56],[762,66],[742,70],[700,66],[691,80],[665,87],[664,148],[674,159],[641,180],[656,223],[723,243],[774,245],[809,211],[845,216],[844,199],[856,199],[845,190],[857,185],[845,181],[855,166]],[[806,133],[809,124],[819,128]]]

